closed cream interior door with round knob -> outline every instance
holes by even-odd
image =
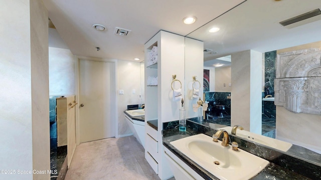
[[[79,140],[115,136],[116,65],[81,59],[79,62]]]

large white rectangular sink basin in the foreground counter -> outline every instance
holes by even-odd
[[[232,146],[222,146],[205,134],[197,134],[171,142],[191,160],[220,179],[244,180],[259,173],[269,161]],[[219,164],[216,164],[219,163]]]

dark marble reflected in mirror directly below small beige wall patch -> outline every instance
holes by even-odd
[[[210,114],[215,115],[218,112],[216,105],[224,105],[225,109],[223,114],[231,115],[231,99],[227,96],[231,95],[231,92],[204,92],[205,101],[209,102]]]

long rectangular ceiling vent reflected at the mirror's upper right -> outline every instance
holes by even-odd
[[[296,27],[299,25],[303,25],[303,24],[321,19],[320,14],[321,14],[321,10],[317,8],[309,12],[297,15],[295,17],[283,20],[279,23],[288,28],[292,28],[292,27]]]

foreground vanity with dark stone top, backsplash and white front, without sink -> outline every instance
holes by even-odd
[[[165,153],[170,156],[171,164],[176,164],[176,169],[172,169],[174,174],[177,174],[175,171],[178,171],[180,175],[179,178],[184,177],[185,179],[219,179],[171,144],[171,142],[175,140],[200,133],[212,137],[216,131],[215,129],[190,120],[187,120],[186,132],[181,132],[178,128],[163,130]],[[251,179],[321,179],[321,166],[319,165],[304,161],[277,149],[246,141],[235,135],[229,134],[229,137],[231,141],[238,142],[239,148],[242,150],[269,161],[269,163]]]

